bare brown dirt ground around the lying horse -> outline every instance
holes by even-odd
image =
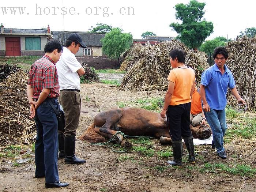
[[[164,97],[165,91],[123,91],[118,87],[106,84],[81,85],[82,112],[77,136],[93,122],[95,115],[102,110],[117,107],[118,102],[131,102],[140,98]],[[154,150],[167,149],[161,146],[157,139],[152,139]],[[61,189],[46,189],[44,178],[35,178],[34,156],[30,163],[13,162],[20,160],[22,155],[10,158],[0,158],[0,190],[1,191],[85,191],[85,192],[205,192],[205,191],[255,191],[255,177],[239,176],[228,173],[209,173],[199,171],[200,165],[210,163],[228,163],[236,161],[233,154],[242,155],[243,161],[256,167],[255,156],[249,156],[248,151],[240,154],[232,144],[225,144],[227,159],[217,157],[210,145],[195,146],[196,151],[204,151],[193,166],[184,163],[182,167],[168,167],[166,160],[145,157],[138,152],[130,151],[114,153],[104,146],[91,146],[88,142],[76,140],[76,155],[87,160],[82,165],[66,165],[63,159],[58,161],[60,181],[69,182],[69,186]],[[27,149],[30,152],[30,148]],[[34,155],[34,154],[32,154]],[[133,161],[119,161],[118,157],[126,155]],[[170,157],[171,159],[172,157]],[[187,159],[187,156],[184,155]],[[237,160],[239,161],[239,160]],[[154,167],[165,167],[164,170]],[[192,167],[192,168],[191,168]],[[202,168],[203,166],[201,166]]]

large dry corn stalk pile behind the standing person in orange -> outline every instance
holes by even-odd
[[[171,69],[169,52],[175,48],[184,50],[185,65],[195,70],[196,81],[200,83],[202,72],[209,67],[206,55],[189,50],[180,41],[173,39],[156,45],[148,42],[145,46],[133,45],[120,67],[120,70],[127,71],[121,87],[126,90],[166,90]]]

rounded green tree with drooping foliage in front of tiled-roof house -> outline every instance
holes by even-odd
[[[101,39],[101,43],[103,52],[110,58],[117,58],[119,65],[120,55],[132,45],[132,35],[122,33],[120,28],[113,28]]]

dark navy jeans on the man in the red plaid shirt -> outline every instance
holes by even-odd
[[[57,98],[49,99],[57,107]],[[58,121],[47,101],[41,103],[35,114],[37,139],[35,141],[35,175],[45,175],[45,182],[59,181]]]

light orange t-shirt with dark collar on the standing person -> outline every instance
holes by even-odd
[[[169,105],[180,105],[191,102],[190,91],[196,80],[195,72],[192,68],[177,67],[172,69],[167,79],[175,83]]]

